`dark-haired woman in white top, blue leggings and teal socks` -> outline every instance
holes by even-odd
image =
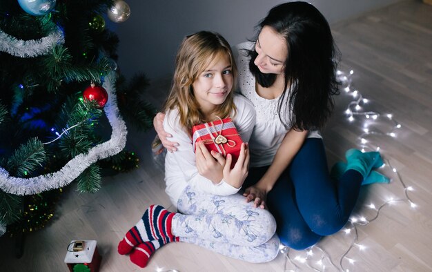
[[[282,244],[306,249],[342,229],[360,186],[375,182],[369,175],[383,162],[380,153],[351,149],[347,164],[337,164],[339,177],[333,180],[328,172],[319,130],[338,93],[339,52],[321,12],[306,2],[283,3],[268,12],[257,33],[237,46],[237,86],[257,114],[243,195],[255,207],[268,206]],[[155,128],[174,151],[160,129],[161,117]]]

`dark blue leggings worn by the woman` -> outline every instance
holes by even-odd
[[[267,169],[250,168],[243,188],[258,182]],[[362,180],[355,170],[332,180],[322,139],[306,139],[267,195],[282,244],[302,250],[342,229],[353,211]]]

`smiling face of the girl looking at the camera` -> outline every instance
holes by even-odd
[[[224,103],[233,88],[233,72],[228,56],[218,56],[198,75],[193,93],[203,113],[210,113]]]

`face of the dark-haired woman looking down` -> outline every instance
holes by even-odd
[[[283,74],[288,55],[286,41],[273,28],[264,26],[259,32],[255,51],[258,55],[253,62],[264,74]]]

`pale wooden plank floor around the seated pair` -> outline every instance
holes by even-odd
[[[369,122],[371,131],[381,133],[364,139],[370,148],[380,146],[389,159],[392,167],[380,171],[393,181],[362,187],[353,217],[364,217],[369,223],[348,223],[346,229],[313,247],[313,255],[289,251],[289,258],[280,253],[273,262],[248,264],[194,245],[172,243],[157,251],[146,269],[139,269],[117,253],[117,243],[149,204],[162,204],[171,211],[173,206],[164,193],[163,173],[150,156],[154,132],[130,131],[129,149],[141,155],[140,168],[104,178],[103,188],[95,195],[78,194],[73,189],[64,193],[57,219],[28,235],[19,260],[12,252],[13,240],[0,237],[0,271],[68,271],[63,260],[66,246],[74,239],[97,240],[103,272],[432,271],[432,6],[402,1],[336,23],[332,29],[343,55],[341,70],[354,71],[351,90],[369,99],[362,110],[384,116]],[[155,83],[151,89],[157,93],[168,85]],[[344,113],[353,99],[342,91],[324,131],[329,164],[342,159],[348,148],[361,145],[364,117],[349,122]],[[387,113],[402,126],[395,137],[382,135],[393,124],[386,120]],[[408,186],[413,191],[405,191]],[[392,197],[395,201],[389,202]]]

